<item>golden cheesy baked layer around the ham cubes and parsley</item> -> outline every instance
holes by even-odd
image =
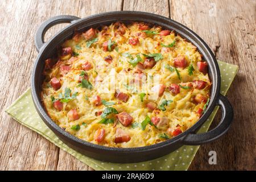
[[[159,32],[160,30],[161,27],[151,28],[151,31]],[[180,126],[180,129],[185,131],[194,125],[199,119],[199,114],[197,114],[196,111],[199,108],[203,108],[205,103],[195,104],[193,97],[198,93],[208,97],[210,89],[208,75],[203,75],[197,68],[197,62],[201,61],[201,55],[196,47],[180,36],[176,36],[174,32],[171,32],[171,34],[167,36],[160,36],[158,34],[147,35],[146,38],[137,36],[138,32],[142,32],[139,30],[137,23],[127,26],[124,35],[117,34],[116,32],[117,30],[114,24],[111,24],[108,30],[97,31],[96,37],[98,41],[93,43],[89,48],[86,46],[86,40],[82,36],[76,41],[71,39],[63,44],[63,47],[71,47],[72,51],[79,53],[79,55],[72,64],[68,62],[69,57],[62,58],[63,60],[60,61],[61,64],[69,64],[71,66],[71,70],[63,76],[60,74],[58,64],[46,71],[46,79],[42,85],[42,100],[52,120],[80,139],[109,147],[141,147],[165,140],[159,137],[159,135],[167,134],[167,129],[147,125],[146,129],[142,130],[141,127],[133,128],[131,125],[125,127],[119,122],[117,122],[116,126],[112,123],[106,125],[98,123],[101,121],[101,116],[96,116],[95,113],[97,111],[103,111],[106,108],[104,105],[95,106],[93,104],[94,97],[100,96],[101,100],[115,102],[113,107],[118,113],[122,111],[129,113],[131,117],[133,117],[133,123],[141,123],[148,115],[150,118],[155,116],[159,118],[167,117],[169,121],[168,125],[171,129],[176,129],[177,126]],[[131,46],[129,44],[129,38],[135,37],[139,38],[139,43],[137,46]],[[102,49],[102,43],[108,41],[110,38],[117,44],[118,51],[114,49],[113,51],[105,52]],[[174,40],[176,40],[176,43],[175,46],[171,48],[170,52],[164,53],[162,51],[162,60],[158,61],[153,68],[144,69],[145,77],[143,78],[142,88],[137,88],[136,85],[132,85],[129,90],[127,90],[127,86],[125,85],[129,84],[130,80],[133,80],[135,68],[129,63],[130,58],[125,56],[124,53],[130,53],[133,57],[139,54],[144,60],[146,57],[143,56],[142,53],[147,55],[149,53],[161,53],[162,46],[160,43],[168,45],[174,42]],[[79,47],[81,47],[81,49]],[[104,58],[109,55],[113,57],[111,64],[104,60]],[[187,68],[177,68],[182,80],[179,80],[175,71],[171,72],[164,67],[164,65],[167,64],[174,67],[173,61],[178,55],[185,56],[188,65],[192,64],[195,69],[193,75],[189,76]],[[92,89],[77,86],[79,85],[77,80],[79,80],[79,75],[82,70],[81,65],[86,61],[92,64],[92,69],[86,71],[88,73],[88,80],[93,85]],[[60,89],[54,90],[49,86],[52,77],[59,78],[61,82]],[[158,83],[166,86],[172,83],[180,84],[181,82],[191,82],[193,80],[203,80],[207,82],[208,86],[201,90],[180,88],[180,93],[176,95],[172,95],[167,89],[163,96],[156,96],[152,99],[150,96],[154,95],[154,93],[151,92],[151,87],[157,84],[157,82],[151,81],[154,79],[159,81]],[[101,80],[101,82],[98,80]],[[145,82],[147,82],[147,84],[145,84]],[[65,88],[71,89],[72,94],[77,92],[77,97],[67,103],[63,103],[63,110],[57,111],[53,107],[51,97],[58,98],[60,93],[64,93]],[[127,102],[122,102],[115,98],[114,93],[117,89],[123,93],[129,94],[129,100]],[[147,94],[143,102],[139,97],[139,93],[142,92]],[[150,111],[147,109],[146,104],[149,101],[154,100],[159,106],[163,99],[173,101],[165,106],[166,111]],[[69,121],[67,117],[67,113],[71,109],[76,109],[79,113],[80,118],[76,121]],[[117,119],[114,119],[116,122]],[[74,125],[80,125],[80,130],[71,129]],[[129,142],[114,142],[117,127],[121,127],[122,130],[130,135],[131,139]],[[100,143],[94,140],[94,133],[99,128],[105,129],[104,140]],[[168,136],[172,138],[171,135]]]

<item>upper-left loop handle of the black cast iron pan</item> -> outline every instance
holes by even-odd
[[[60,16],[54,16],[52,18],[49,18],[48,20],[43,22],[35,34],[36,50],[39,52],[40,48],[43,47],[44,34],[46,34],[46,31],[49,28],[51,28],[52,26],[55,26],[56,24],[60,24],[60,23],[72,23],[73,21],[75,21],[77,19],[80,19],[80,18],[77,16],[71,16],[71,15],[60,15]]]

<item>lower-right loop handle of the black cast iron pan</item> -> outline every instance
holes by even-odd
[[[229,127],[231,126],[232,120],[233,120],[233,109],[232,105],[228,101],[228,99],[220,94],[217,105],[220,105],[222,110],[222,118],[220,123],[217,127],[215,127],[213,130],[210,130],[206,133],[201,134],[195,134],[190,133],[188,134],[184,139],[183,143],[187,145],[200,145],[203,143],[211,142],[228,131]]]

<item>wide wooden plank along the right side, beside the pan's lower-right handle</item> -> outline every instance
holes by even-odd
[[[228,92],[233,126],[221,139],[202,145],[190,169],[255,169],[255,1],[173,0],[170,12],[172,19],[199,34],[217,59],[240,67]],[[217,165],[208,164],[211,150],[217,152]]]

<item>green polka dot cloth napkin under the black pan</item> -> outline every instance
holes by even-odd
[[[221,71],[221,94],[225,95],[236,76],[238,67],[237,65],[227,64],[221,61],[218,61],[218,65],[220,66]],[[214,109],[212,115],[210,115],[199,130],[199,133],[206,132],[209,129],[217,109],[217,107]],[[76,152],[56,137],[36,112],[32,102],[31,89],[28,89],[13,104],[11,104],[11,106],[6,109],[6,112],[22,125],[39,133],[56,146],[67,151],[69,154],[81,160],[81,162],[96,170],[187,170],[199,149],[199,146],[183,146],[171,154],[141,163],[117,164],[101,162]]]

